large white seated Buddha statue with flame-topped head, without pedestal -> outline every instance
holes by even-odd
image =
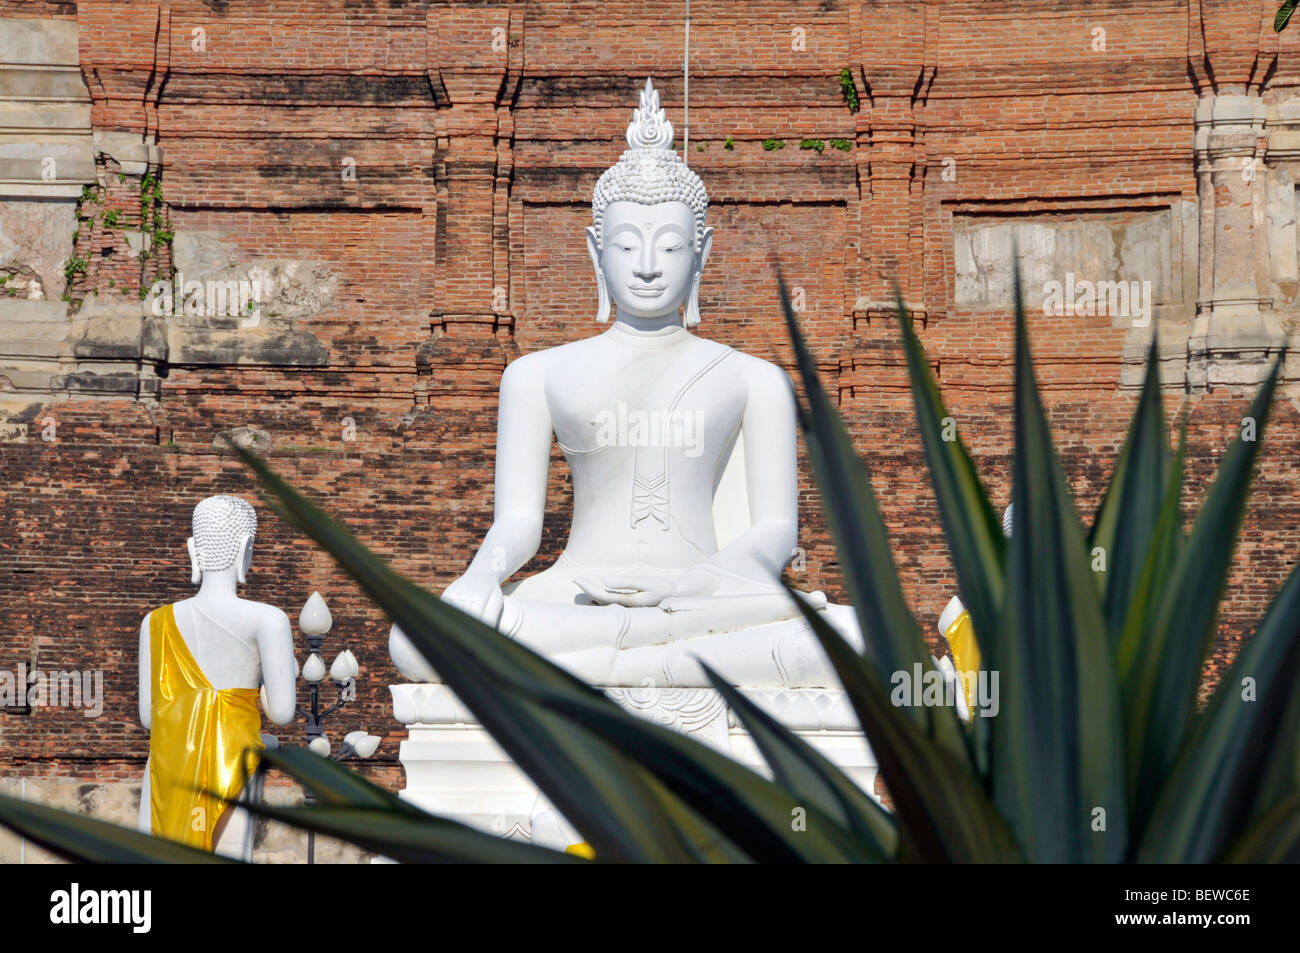
[[[506,368],[493,524],[442,598],[590,684],[703,686],[703,660],[746,686],[837,686],[779,581],[798,529],[794,389],[693,333],[714,230],[672,140],[647,79],[586,229],[595,319],[615,320]],[[568,540],[507,582],[540,547],[552,439],[572,475]],[[861,649],[850,607],[810,599]],[[408,679],[438,680],[396,627],[389,649]]]

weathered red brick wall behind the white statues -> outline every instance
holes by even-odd
[[[959,235],[996,221],[1050,231],[1088,220],[1122,243],[1143,216],[1165,215],[1170,287],[1157,324],[1170,415],[1180,402],[1193,412],[1190,497],[1199,502],[1251,389],[1188,385],[1186,342],[1197,302],[1212,298],[1206,274],[1256,265],[1201,260],[1204,203],[1216,191],[1199,174],[1193,116],[1212,94],[1240,90],[1275,104],[1300,88],[1295,35],[1278,40],[1264,29],[1269,7],[693,4],[688,157],[718,229],[701,333],[789,367],[771,269],[781,263],[872,467],[898,568],[927,625],[954,582],[888,312],[893,282],[922,321],[949,408],[1002,504],[1011,321],[996,294],[958,304]],[[403,572],[441,588],[464,568],[490,519],[502,368],[598,330],[581,229],[646,74],[681,146],[682,25],[664,9],[0,4],[0,18],[75,18],[92,127],[161,148],[156,176],[174,241],[150,268],[263,268],[289,289],[252,329],[183,315],[150,325],[162,356],[122,360],[139,374],[157,361],[156,400],[143,385],[121,399],[92,398],[75,381],[51,394],[0,394],[9,421],[0,442],[0,667],[100,667],[108,692],[94,722],[60,710],[0,718],[6,775],[138,775],[147,746],[135,720],[139,620],[191,592],[194,503],[255,494],[214,447],[221,433],[268,434],[273,465]],[[1093,48],[1097,27],[1105,49]],[[143,178],[120,181],[112,161],[100,161],[109,202],[138,216]],[[81,211],[84,220],[86,203]],[[121,256],[125,239],[100,228],[77,242],[95,264],[70,304],[91,293],[121,307],[138,302],[139,277],[129,278],[140,269]],[[105,247],[114,250],[107,259]],[[1277,302],[1286,322],[1291,295]],[[1037,312],[1031,328],[1087,515],[1124,436],[1144,341],[1108,316]],[[1251,632],[1300,553],[1297,456],[1296,408],[1282,400],[1212,668]],[[554,556],[568,525],[567,475],[554,459],[546,537],[529,571]],[[842,598],[806,469],[802,486],[807,567],[794,581]],[[243,594],[291,615],[313,589],[326,597],[332,649],[346,642],[361,663],[361,702],[333,733],[384,735],[369,770],[399,785],[385,620],[328,558],[266,507],[259,512]]]

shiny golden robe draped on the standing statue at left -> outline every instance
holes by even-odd
[[[176,625],[176,606],[150,615],[150,655],[152,831],[212,850],[222,798],[244,783],[243,751],[261,748],[257,689],[212,686]],[[248,771],[255,766],[251,757]]]

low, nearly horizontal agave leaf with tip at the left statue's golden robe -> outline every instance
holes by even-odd
[[[317,757],[317,755],[311,755]],[[402,863],[586,863],[575,854],[546,850],[478,831],[424,811],[387,807],[246,805],[250,813],[303,831],[338,837]]]

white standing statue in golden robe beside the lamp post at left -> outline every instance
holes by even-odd
[[[270,720],[287,724],[298,676],[289,616],[235,594],[256,534],[246,501],[200,502],[186,542],[199,592],[140,623],[140,724],[150,731],[150,761],[139,828],[243,858],[251,853],[248,815],[221,798],[239,796],[243,753],[261,748],[259,696]]]

